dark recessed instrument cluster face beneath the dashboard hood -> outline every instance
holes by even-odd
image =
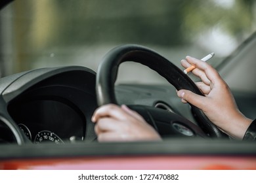
[[[20,99],[9,105],[9,113],[34,143],[82,141],[87,108],[79,106],[76,98],[92,106],[92,97],[87,95],[68,86],[44,86],[20,96]]]

